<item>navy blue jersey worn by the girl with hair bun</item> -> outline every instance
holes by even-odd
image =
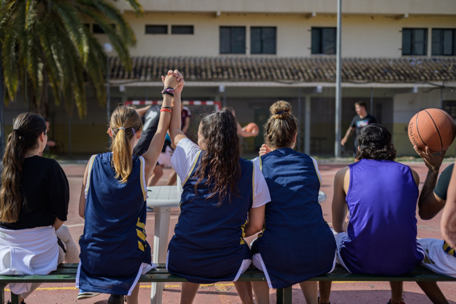
[[[330,272],[336,244],[318,203],[321,181],[312,158],[280,148],[262,156],[260,165],[271,202],[252,254],[261,254],[268,283],[284,288]]]

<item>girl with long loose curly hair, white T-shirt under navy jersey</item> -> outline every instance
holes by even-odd
[[[180,99],[174,99],[179,108]],[[244,241],[264,222],[271,198],[260,169],[240,158],[237,122],[231,111],[205,116],[198,145],[180,129],[179,113],[169,128],[176,147],[171,164],[182,180],[179,220],[168,245],[166,268],[186,278],[181,303],[191,303],[201,283],[234,281],[244,304],[253,304],[250,282],[236,282],[249,267]],[[250,232],[252,233],[252,232]]]

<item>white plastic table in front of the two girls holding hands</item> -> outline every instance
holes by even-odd
[[[180,180],[177,181],[180,185]],[[171,207],[179,207],[182,187],[179,186],[153,186],[147,187],[147,207],[154,208],[154,263],[166,262],[166,249],[168,248],[169,218]],[[152,283],[150,290],[150,304],[161,304],[165,283]]]

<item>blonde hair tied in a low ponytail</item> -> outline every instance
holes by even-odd
[[[111,166],[116,178],[125,183],[133,169],[131,138],[142,130],[142,121],[134,107],[118,106],[111,115]]]

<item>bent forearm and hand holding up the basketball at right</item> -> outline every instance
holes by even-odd
[[[431,219],[442,210],[446,202],[446,200],[442,200],[434,193],[439,169],[446,150],[442,151],[440,155],[432,155],[428,147],[426,147],[425,151],[419,150],[416,146],[413,146],[413,149],[415,149],[416,154],[423,158],[426,167],[428,167],[428,174],[418,199],[418,214],[422,219]]]

